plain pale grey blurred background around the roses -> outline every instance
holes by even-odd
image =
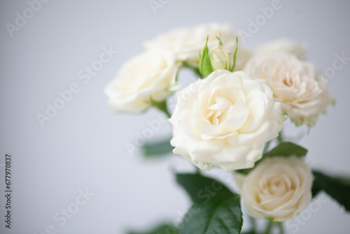
[[[106,106],[104,87],[160,32],[204,22],[230,22],[248,32],[261,8],[276,1],[1,0],[0,233],[125,233],[181,220],[191,203],[172,171],[193,166],[181,156],[146,160],[139,149],[127,151],[159,112],[116,115]],[[312,168],[349,175],[350,58],[341,69],[332,66],[342,54],[350,57],[350,1],[277,2],[281,8],[244,46],[285,37],[309,43],[307,60],[328,69],[337,105],[309,135],[289,123],[286,137],[304,136],[298,144],[309,149]],[[103,64],[96,62],[102,53],[109,55]],[[88,73],[94,63],[102,66]],[[181,80],[188,77],[193,74],[181,71]],[[57,101],[62,95],[63,103]],[[39,123],[54,104],[60,109]],[[162,123],[150,140],[170,135]],[[12,157],[10,230],[4,223],[6,153]],[[223,177],[221,170],[206,174]],[[224,183],[235,190],[230,179]],[[300,217],[297,228],[286,224],[286,233],[349,233],[350,215],[324,194],[319,199],[319,209]]]

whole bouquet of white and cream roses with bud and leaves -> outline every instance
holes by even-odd
[[[161,34],[106,87],[108,104],[117,111],[164,112],[173,127],[172,151],[198,169],[176,174],[193,200],[187,218],[151,233],[241,233],[241,202],[251,222],[248,233],[259,233],[255,219],[267,219],[265,233],[277,227],[283,233],[282,222],[295,219],[319,191],[350,211],[349,181],[311,170],[304,161],[307,149],[281,135],[286,119],[310,130],[335,104],[328,81],[304,60],[306,46],[285,39],[251,51],[239,45],[238,36],[226,24]],[[183,67],[198,79],[180,90]],[[169,113],[167,99],[174,92]],[[167,145],[144,147],[164,153]],[[205,177],[202,171],[211,167],[233,172],[239,195]]]

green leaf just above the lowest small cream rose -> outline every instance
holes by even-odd
[[[306,156],[307,149],[302,148],[292,142],[281,142],[278,146],[274,147],[271,151],[265,153],[264,157],[271,156]]]

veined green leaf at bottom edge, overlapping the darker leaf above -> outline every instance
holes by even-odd
[[[183,217],[179,234],[239,234],[243,219],[239,197],[215,197],[193,205]]]

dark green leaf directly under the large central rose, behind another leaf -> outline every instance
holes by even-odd
[[[187,191],[193,202],[208,202],[215,195],[228,196],[232,192],[221,182],[201,174],[176,174],[176,181]]]

